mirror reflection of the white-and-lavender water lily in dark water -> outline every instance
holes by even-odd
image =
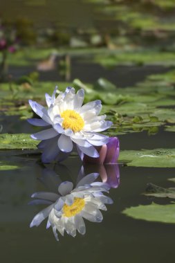
[[[75,237],[76,231],[84,235],[86,226],[84,219],[92,222],[101,222],[103,217],[100,210],[107,210],[106,203],[113,201],[103,192],[108,192],[109,185],[102,182],[94,182],[98,174],[92,173],[84,176],[73,189],[73,183],[64,181],[58,187],[58,192],[35,192],[36,198],[30,204],[48,204],[49,206],[39,212],[33,218],[30,227],[39,224],[48,217],[46,228],[53,228],[55,238],[58,239],[57,231],[64,235]]]

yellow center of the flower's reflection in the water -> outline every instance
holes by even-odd
[[[74,202],[71,206],[66,205],[64,203],[63,211],[64,211],[64,217],[73,217],[74,215],[77,215],[85,206],[85,201],[83,198],[77,198],[75,197]]]

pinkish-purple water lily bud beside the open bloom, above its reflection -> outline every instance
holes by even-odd
[[[120,152],[120,143],[117,137],[109,138],[107,144],[102,145],[101,147],[96,147],[99,153],[98,158],[91,158],[86,154],[82,154],[81,158],[84,163],[117,163],[118,156]]]

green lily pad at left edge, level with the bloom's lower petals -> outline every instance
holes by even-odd
[[[30,134],[1,134],[0,149],[37,149],[38,140]]]

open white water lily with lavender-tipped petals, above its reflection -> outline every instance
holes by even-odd
[[[43,150],[42,161],[62,161],[76,147],[78,154],[98,158],[96,146],[107,144],[108,136],[99,134],[111,127],[112,122],[105,120],[106,115],[98,116],[102,109],[101,101],[95,100],[82,106],[84,90],[75,94],[75,89],[67,87],[64,93],[55,98],[57,87],[52,97],[46,94],[48,109],[29,100],[30,107],[42,118],[29,119],[36,126],[51,126],[49,129],[32,134],[35,140],[42,140],[38,148]]]

